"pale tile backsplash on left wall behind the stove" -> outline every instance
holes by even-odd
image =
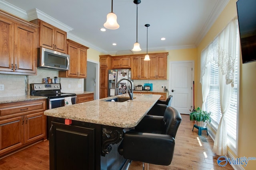
[[[0,74],[0,84],[4,84],[4,91],[0,91],[0,97],[23,96],[26,95],[26,85],[28,85],[28,94],[30,94],[31,83],[42,83],[46,77],[58,77],[59,72],[54,70],[37,69],[37,75],[26,76],[16,74]],[[83,78],[59,78],[61,83],[61,92],[83,92]]]

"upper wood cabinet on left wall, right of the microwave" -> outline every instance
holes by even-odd
[[[70,55],[70,69],[59,71],[59,77],[86,78],[87,72],[87,49],[88,47],[68,41],[68,54]]]

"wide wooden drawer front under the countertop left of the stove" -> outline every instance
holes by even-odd
[[[9,105],[0,105],[0,116],[16,114],[16,113],[28,113],[32,111],[44,111],[46,109],[46,102],[15,102]]]

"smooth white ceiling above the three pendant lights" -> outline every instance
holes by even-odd
[[[141,0],[138,4],[140,53],[146,51],[146,23],[150,24],[149,53],[196,47],[228,1]],[[136,42],[133,0],[113,0],[113,12],[120,27],[105,32],[100,28],[111,12],[111,0],[0,0],[0,8],[27,20],[35,17],[31,11],[36,11],[38,16],[43,16],[40,19],[49,20],[52,25],[64,24],[68,38],[105,54],[132,53]],[[161,41],[162,37],[166,40]]]

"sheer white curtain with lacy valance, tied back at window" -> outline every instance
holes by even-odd
[[[232,88],[234,87],[234,62],[236,57],[236,27],[234,19],[201,53],[201,77],[203,106],[209,92],[209,63],[215,61],[219,67],[220,108],[222,117],[214,140],[213,151],[218,155],[227,154],[227,129],[225,114],[229,110]],[[203,60],[203,61],[202,61]]]

